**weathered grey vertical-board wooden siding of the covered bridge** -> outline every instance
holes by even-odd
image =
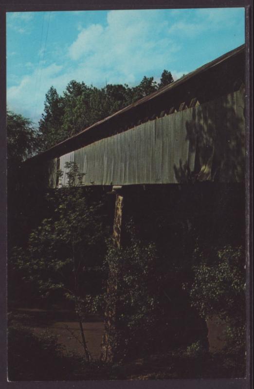
[[[59,186],[66,185],[67,161],[84,173],[83,185],[168,184],[184,182],[199,161],[200,180],[244,177],[244,92],[148,121],[60,157]],[[221,174],[222,172],[222,174]],[[56,185],[56,159],[50,185]]]

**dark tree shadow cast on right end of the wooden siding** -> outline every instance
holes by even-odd
[[[193,108],[186,121],[189,151],[196,152],[195,171],[187,163],[174,165],[177,182],[244,182],[245,178],[244,90]]]

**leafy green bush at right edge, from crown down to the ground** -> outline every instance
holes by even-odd
[[[226,324],[225,363],[243,371],[246,349],[244,249],[226,246],[211,258],[205,258],[196,250],[196,261],[195,280],[190,290],[192,304],[202,317],[218,317]]]

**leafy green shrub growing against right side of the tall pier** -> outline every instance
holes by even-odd
[[[158,259],[156,248],[136,238],[132,223],[127,230],[129,245],[115,248],[109,244],[106,256],[109,267],[106,312],[116,312],[116,331],[108,329],[109,343],[116,348],[118,359],[151,350],[152,328],[158,320],[158,285],[153,277]]]

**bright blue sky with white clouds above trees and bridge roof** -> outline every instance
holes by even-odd
[[[244,8],[7,13],[7,105],[37,123],[71,80],[176,80],[244,43]]]

